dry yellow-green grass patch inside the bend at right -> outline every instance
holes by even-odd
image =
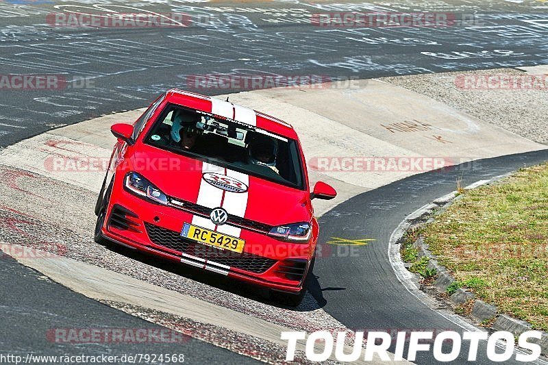
[[[469,288],[548,331],[548,164],[461,195],[422,232],[456,279],[447,294]]]

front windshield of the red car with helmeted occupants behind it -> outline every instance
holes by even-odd
[[[303,189],[295,140],[210,113],[169,104],[145,143]]]

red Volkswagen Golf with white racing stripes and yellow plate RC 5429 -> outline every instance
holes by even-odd
[[[319,227],[295,130],[284,121],[169,90],[118,138],[97,199],[95,241],[266,286],[300,303]]]

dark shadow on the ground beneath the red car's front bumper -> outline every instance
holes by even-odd
[[[281,303],[277,303],[276,301],[271,300],[270,292],[266,288],[253,286],[242,281],[237,281],[216,273],[210,273],[206,270],[201,270],[192,266],[177,264],[168,260],[158,260],[158,257],[147,255],[147,253],[142,253],[140,251],[128,249],[127,247],[123,247],[119,244],[109,243],[105,248],[115,253],[119,253],[120,255],[123,255],[125,257],[129,257],[132,260],[136,260],[142,262],[143,264],[159,268],[160,270],[166,270],[169,273],[174,273],[176,275],[186,277],[187,279],[197,281],[201,284],[206,284],[220,290],[225,290],[226,292],[231,292],[232,294],[239,295],[240,297],[252,299],[253,301],[258,301],[267,305],[272,305],[273,307],[284,308],[296,312],[310,312],[312,310],[317,310],[323,307],[326,303],[325,299],[323,299],[321,295],[322,289],[319,288],[317,277],[315,277],[314,275],[310,275],[310,277],[308,277],[308,294],[311,294],[313,299],[305,298],[303,300],[303,303],[301,303],[298,307],[288,307],[286,305],[282,305]],[[325,288],[323,290],[337,289],[338,288]]]

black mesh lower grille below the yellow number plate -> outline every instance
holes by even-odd
[[[252,273],[264,273],[276,263],[276,260],[269,259],[251,253],[236,253],[223,251],[207,244],[199,244],[181,237],[178,232],[171,231],[151,223],[145,223],[147,234],[154,244],[167,247],[175,251],[186,253],[204,260],[212,260],[226,266],[251,271]]]

